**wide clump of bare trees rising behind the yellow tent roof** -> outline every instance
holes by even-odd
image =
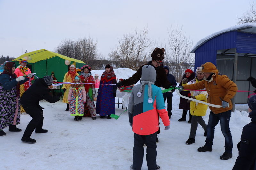
[[[103,58],[97,52],[97,41],[94,42],[90,37],[78,40],[65,39],[59,46],[57,46],[55,52],[70,58],[84,61],[93,69],[98,69],[97,60]]]

